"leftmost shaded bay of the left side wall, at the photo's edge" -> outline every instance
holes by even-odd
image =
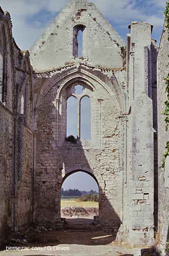
[[[3,12],[0,12],[3,17]],[[10,24],[9,28],[10,27]],[[0,32],[0,245],[12,228],[12,179],[13,179],[13,68],[10,54],[11,35],[1,21]]]

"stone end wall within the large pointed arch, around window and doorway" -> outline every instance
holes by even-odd
[[[44,223],[45,218],[54,222],[60,218],[62,178],[73,171],[82,170],[91,173],[99,183],[101,223],[107,223],[109,228],[112,226],[111,223],[116,228],[121,224],[122,170],[119,170],[119,113],[108,92],[96,82],[94,87],[95,91],[91,92],[92,140],[88,142],[81,140],[76,145],[65,142],[65,108],[60,106],[59,123],[57,124],[56,121],[57,109],[54,102],[59,88],[57,84],[40,104],[37,114],[35,189],[35,218],[38,223]],[[60,104],[64,106],[66,98],[62,97]],[[100,115],[101,120],[99,120]],[[57,127],[60,131],[58,137]],[[53,208],[49,209],[51,204]]]

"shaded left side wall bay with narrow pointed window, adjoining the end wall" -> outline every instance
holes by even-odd
[[[32,68],[28,52],[16,50],[16,114],[14,148],[14,229],[21,231],[33,223],[33,95]],[[24,101],[22,101],[24,96]],[[23,112],[21,111],[21,105]],[[22,113],[22,114],[21,114]]]

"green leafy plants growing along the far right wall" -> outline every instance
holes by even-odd
[[[165,8],[165,28],[169,29],[169,1],[167,1],[166,3],[166,8]],[[168,40],[169,40],[169,36],[168,36]],[[165,82],[166,82],[166,89],[165,92],[167,93],[167,100],[165,101],[165,110],[164,110],[164,115],[165,117],[165,122],[166,122],[166,131],[169,130],[169,73],[167,75],[166,78],[164,78]],[[165,167],[165,160],[167,158],[167,156],[169,156],[169,141],[167,141],[166,143],[166,152],[163,156],[163,160],[162,160],[162,167]]]

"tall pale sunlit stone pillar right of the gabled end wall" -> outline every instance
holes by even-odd
[[[151,29],[144,22],[130,28],[129,102],[131,107],[131,200],[129,241],[154,242],[153,104],[151,100]]]

